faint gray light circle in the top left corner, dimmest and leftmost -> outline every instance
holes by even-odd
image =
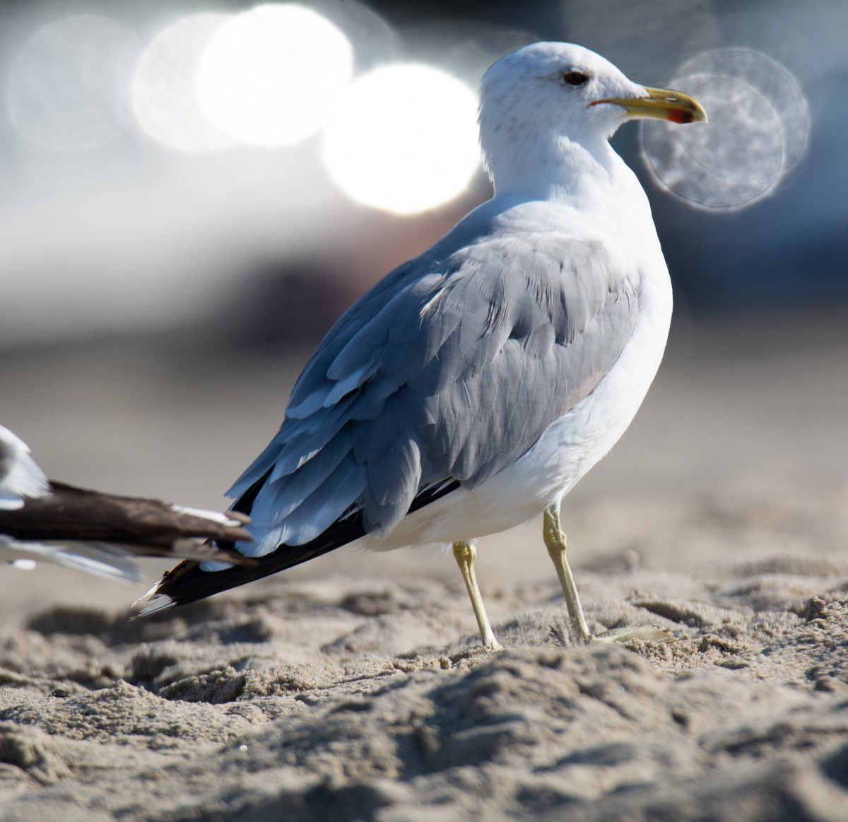
[[[98,14],[54,20],[25,42],[8,81],[8,105],[23,137],[44,148],[83,150],[125,126],[135,34]]]

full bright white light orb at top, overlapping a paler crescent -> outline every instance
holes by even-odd
[[[350,42],[293,4],[236,14],[212,37],[198,70],[198,103],[220,131],[250,145],[291,145],[319,131],[349,87]]]

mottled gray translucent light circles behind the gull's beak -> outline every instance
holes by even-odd
[[[681,129],[643,124],[643,158],[679,199],[705,210],[745,208],[773,193],[804,155],[804,92],[767,55],[714,49],[690,60],[669,85],[694,95],[710,118]]]

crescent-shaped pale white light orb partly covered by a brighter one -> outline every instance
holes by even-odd
[[[183,151],[211,151],[232,140],[209,123],[198,106],[198,64],[228,14],[191,14],[160,31],[138,60],[132,110],[142,130]]]

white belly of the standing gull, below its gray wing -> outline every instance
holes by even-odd
[[[585,400],[545,429],[536,445],[473,489],[457,489],[407,515],[380,539],[354,545],[391,551],[404,545],[473,540],[527,522],[560,500],[622,436],[656,376],[672,316],[665,266],[644,283],[633,337]]]

